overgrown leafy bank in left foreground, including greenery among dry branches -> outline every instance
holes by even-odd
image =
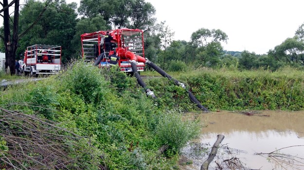
[[[26,150],[27,145],[15,147],[10,136],[21,143],[20,138],[47,140],[47,146],[56,143],[66,155],[62,161],[77,160],[67,161],[64,167],[60,167],[61,160],[50,161],[54,169],[159,170],[175,167],[179,148],[197,134],[197,124],[183,122],[178,111],[147,97],[134,77],[127,77],[116,68],[100,70],[77,62],[59,75],[7,87],[2,92],[0,122],[4,126],[10,124],[13,129],[4,132],[6,128],[0,128],[0,153],[6,155],[6,162],[0,163],[1,169],[22,168],[24,164],[35,169],[43,164],[40,160],[46,156],[40,153],[44,150]],[[25,119],[27,115],[29,119]],[[19,121],[12,121],[13,116],[19,116]],[[177,129],[170,132],[174,138],[166,136],[169,131],[163,129],[167,128],[163,123]],[[31,134],[32,124],[36,124],[42,134],[27,135]],[[62,139],[57,139],[60,137]],[[165,155],[158,153],[162,145],[170,146]],[[18,158],[18,155],[16,158],[13,153],[21,149],[25,155],[28,152],[39,155],[39,159]],[[83,156],[86,150],[91,153]],[[48,151],[49,155],[56,152]]]

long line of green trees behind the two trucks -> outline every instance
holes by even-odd
[[[282,44],[269,49],[268,54],[231,52],[223,49],[228,35],[221,30],[201,28],[193,32],[189,42],[173,40],[174,31],[164,21],[155,18],[154,6],[144,0],[3,0],[3,27],[0,28],[0,51],[11,74],[15,59],[22,59],[27,46],[48,44],[62,46],[62,62],[81,55],[80,35],[119,28],[144,31],[145,56],[164,70],[181,71],[199,67],[233,67],[237,69],[265,68],[276,70],[284,65],[304,65],[304,24]],[[13,13],[9,13],[13,9]]]

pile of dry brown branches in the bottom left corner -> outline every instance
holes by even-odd
[[[86,169],[98,162],[94,153],[86,139],[53,122],[0,108],[1,170]]]

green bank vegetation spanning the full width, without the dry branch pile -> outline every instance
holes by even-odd
[[[149,72],[159,76],[154,73]],[[271,72],[202,67],[169,75],[185,83],[210,110],[304,109],[304,77],[299,69],[286,67]],[[170,169],[180,147],[195,138],[198,128],[197,122],[183,121],[181,114],[172,110],[198,108],[187,91],[173,81],[160,77],[144,81],[158,99],[147,97],[135,77],[115,67],[100,70],[81,61],[59,75],[6,88],[0,95],[0,105],[43,115],[86,137],[96,148],[91,154],[103,155],[102,160],[94,161],[108,169]],[[73,148],[70,156],[89,167],[86,163],[90,155],[81,153],[90,147],[85,142],[79,144],[83,146]],[[169,146],[165,155],[171,159],[155,158],[164,144]],[[95,168],[91,165],[89,169]]]

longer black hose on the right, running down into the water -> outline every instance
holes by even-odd
[[[194,103],[197,104],[197,107],[200,108],[200,109],[203,109],[204,111],[208,111],[207,108],[205,108],[204,106],[202,106],[199,101],[197,100],[197,98],[189,91],[186,89],[185,85],[181,82],[179,82],[177,79],[175,78],[172,78],[170,75],[168,75],[166,72],[164,72],[160,67],[158,67],[156,64],[154,64],[153,62],[151,61],[146,61],[146,64],[149,65],[150,67],[152,67],[154,70],[156,70],[159,74],[161,74],[161,76],[163,77],[166,77],[170,80],[174,80],[174,83],[177,85],[177,86],[181,86],[182,88],[184,88],[188,94],[189,94],[189,98],[191,99],[191,101],[193,101]]]

